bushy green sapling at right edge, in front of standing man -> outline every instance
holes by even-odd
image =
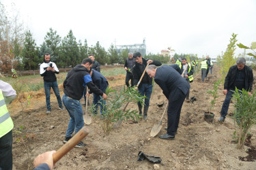
[[[235,112],[233,114],[233,120],[238,125],[238,136],[236,131],[234,137],[238,140],[238,149],[244,147],[244,142],[247,137],[248,130],[256,124],[256,92],[253,95],[248,95],[248,92],[244,89],[238,90],[233,93],[233,99],[235,100],[234,107]]]

